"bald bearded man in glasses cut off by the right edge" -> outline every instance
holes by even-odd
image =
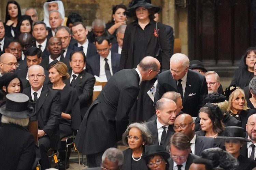
[[[240,150],[240,154],[254,159],[256,158],[256,114],[251,115],[248,117],[247,124],[246,124],[246,132],[248,134],[247,138],[251,140],[250,142],[246,142]]]

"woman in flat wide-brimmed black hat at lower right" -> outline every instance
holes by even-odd
[[[251,170],[256,167],[256,162],[253,159],[240,155],[240,148],[250,142],[249,139],[243,138],[243,128],[238,126],[229,126],[224,130],[224,136],[217,138],[225,140],[225,148],[228,153],[239,161],[237,170]]]

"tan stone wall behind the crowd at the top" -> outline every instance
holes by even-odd
[[[16,0],[22,8],[22,14],[26,8],[37,9],[39,19],[43,19],[43,4],[46,0]],[[70,12],[79,13],[86,24],[90,26],[95,18],[102,18],[105,22],[111,20],[112,6],[123,3],[128,6],[131,0],[62,0],[65,7],[65,16]],[[0,0],[0,19],[5,20],[5,7],[8,0]],[[152,0],[152,4],[162,6],[160,21],[173,27],[175,38],[181,38],[182,53],[187,54],[187,9],[176,8],[175,0]]]

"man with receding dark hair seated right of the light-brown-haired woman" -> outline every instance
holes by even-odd
[[[74,51],[71,53],[69,72],[70,77],[65,81],[65,84],[75,88],[79,94],[80,113],[84,117],[87,109],[91,104],[93,96],[93,88],[95,77],[84,70],[86,65],[85,54],[82,51]]]

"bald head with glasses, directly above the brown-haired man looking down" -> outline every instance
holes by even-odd
[[[195,135],[195,123],[193,118],[188,114],[181,114],[176,117],[174,121],[174,131],[184,133],[189,137],[190,140],[193,139]]]

